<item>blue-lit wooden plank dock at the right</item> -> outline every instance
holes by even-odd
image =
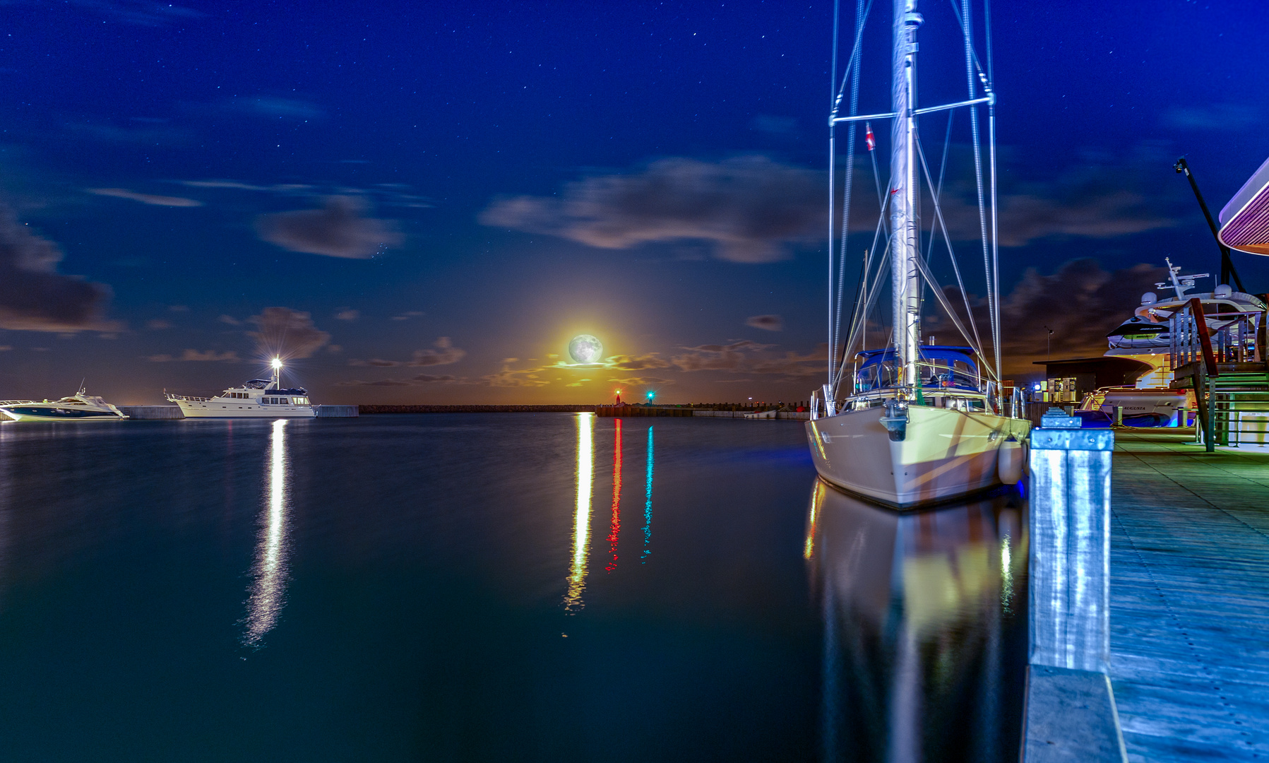
[[[1110,679],[1128,759],[1269,760],[1269,449],[1115,439]]]

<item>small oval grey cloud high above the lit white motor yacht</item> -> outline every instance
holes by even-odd
[[[263,240],[291,251],[352,259],[374,256],[382,248],[401,244],[395,222],[362,217],[363,211],[357,198],[331,196],[321,209],[261,215],[255,229]]]

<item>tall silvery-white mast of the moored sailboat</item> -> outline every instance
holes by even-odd
[[[902,367],[900,383],[917,383],[921,344],[920,223],[916,179],[916,28],[921,14],[916,0],[895,0],[895,51],[891,102],[891,284],[893,289],[895,350]]]

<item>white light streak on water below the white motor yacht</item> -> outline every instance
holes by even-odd
[[[264,522],[255,552],[251,597],[246,602],[242,644],[259,646],[278,622],[287,593],[287,420],[273,423],[269,435],[269,484],[264,491]]]

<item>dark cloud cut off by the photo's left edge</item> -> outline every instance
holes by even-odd
[[[102,312],[110,288],[57,272],[62,251],[20,225],[0,206],[0,329],[28,331],[118,330]]]

